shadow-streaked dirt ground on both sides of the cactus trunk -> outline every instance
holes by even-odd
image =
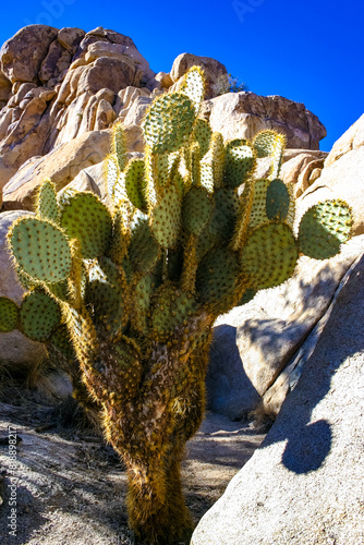
[[[28,390],[8,388],[0,401],[1,545],[132,544],[124,468],[101,437],[81,425],[78,416],[70,417],[75,414],[72,399],[54,409]],[[15,443],[15,435],[16,450],[10,450],[9,437]],[[196,522],[264,437],[246,422],[206,414],[187,444],[182,469],[186,504]],[[12,501],[16,536],[9,534]]]

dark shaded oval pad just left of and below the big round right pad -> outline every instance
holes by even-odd
[[[236,255],[227,247],[210,250],[199,264],[196,290],[204,303],[219,313],[233,305],[239,266]]]

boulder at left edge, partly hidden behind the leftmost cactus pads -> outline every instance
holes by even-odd
[[[24,211],[8,211],[0,214],[0,296],[12,299],[16,304],[22,302],[24,290],[17,277],[7,246],[7,233],[10,226]],[[32,366],[39,364],[47,356],[43,344],[26,339],[20,331],[0,335],[0,367],[4,363]]]

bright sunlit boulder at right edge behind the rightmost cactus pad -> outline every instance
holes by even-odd
[[[299,199],[300,215],[325,198],[347,201],[354,234],[364,233],[364,114],[335,143],[320,177]]]

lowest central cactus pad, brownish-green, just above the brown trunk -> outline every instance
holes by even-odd
[[[172,282],[162,284],[153,301],[153,336],[160,342],[165,341],[177,327],[187,325],[196,310],[197,303],[192,293]]]

